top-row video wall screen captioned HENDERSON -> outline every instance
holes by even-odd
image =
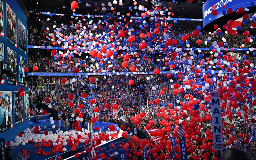
[[[7,40],[17,48],[17,21],[16,14],[6,3]]]

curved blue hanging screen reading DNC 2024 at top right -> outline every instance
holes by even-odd
[[[235,12],[236,9],[240,7],[251,7],[251,4],[255,4],[255,2],[255,0],[208,0],[203,5],[203,25],[206,26],[213,20],[217,20],[218,18],[224,16],[222,14],[223,10],[227,12],[228,8],[232,8],[233,12]],[[224,7],[224,5],[226,6]],[[216,10],[218,15],[212,15],[212,10]],[[242,16],[243,14],[241,14],[241,17]]]

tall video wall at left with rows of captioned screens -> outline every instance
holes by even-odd
[[[0,133],[29,118],[27,21],[16,0],[0,0]]]

